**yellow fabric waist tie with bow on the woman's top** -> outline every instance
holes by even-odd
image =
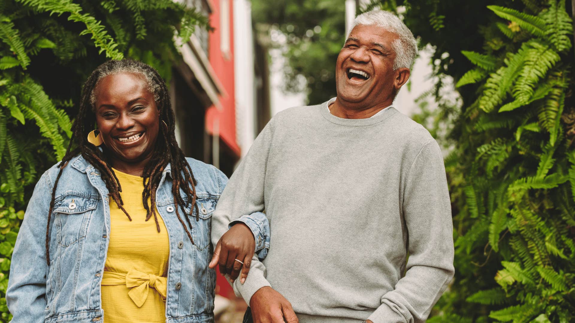
[[[163,301],[166,301],[167,278],[146,274],[139,270],[132,268],[128,274],[121,272],[104,271],[102,277],[102,285],[121,285],[126,284],[126,287],[131,288],[128,291],[128,296],[136,304],[137,307],[144,305],[145,300],[148,298],[148,291],[150,287],[156,289],[162,295]]]

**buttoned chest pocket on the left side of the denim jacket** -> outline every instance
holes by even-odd
[[[96,209],[98,199],[97,196],[67,192],[57,200],[53,214],[58,244],[69,247],[86,237],[90,216]]]

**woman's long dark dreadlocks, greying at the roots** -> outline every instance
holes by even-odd
[[[194,178],[194,174],[191,171],[190,165],[187,163],[186,158],[183,155],[182,149],[178,147],[175,139],[175,117],[174,111],[171,108],[171,102],[168,95],[166,82],[164,82],[162,77],[158,74],[158,71],[156,71],[148,64],[142,63],[141,61],[130,59],[109,60],[106,61],[106,63],[98,66],[98,68],[92,72],[84,84],[82,89],[82,98],[80,101],[80,110],[78,111],[78,116],[76,117],[74,125],[72,125],[72,137],[70,139],[70,144],[68,145],[66,155],[58,165],[60,170],[52,189],[52,199],[50,201],[48,223],[46,225],[46,261],[48,266],[50,265],[48,234],[50,229],[52,210],[54,208],[54,200],[56,198],[56,187],[64,167],[66,167],[72,157],[78,155],[78,153],[81,153],[82,157],[89,161],[89,163],[100,172],[104,183],[106,183],[110,197],[114,199],[114,202],[116,202],[118,207],[120,207],[128,219],[132,221],[132,218],[128,215],[122,206],[124,204],[120,195],[122,188],[118,178],[116,177],[116,174],[114,174],[114,171],[106,160],[104,153],[98,147],[87,141],[88,133],[94,130],[96,121],[94,113],[94,90],[97,87],[99,80],[105,76],[120,73],[132,73],[144,76],[148,91],[154,94],[154,99],[160,112],[160,122],[165,122],[167,126],[164,127],[160,125],[161,130],[158,134],[158,140],[156,140],[155,151],[152,154],[150,161],[148,161],[148,164],[144,167],[144,191],[142,193],[142,202],[144,203],[144,207],[147,212],[145,220],[148,221],[152,216],[154,216],[156,229],[158,232],[160,232],[160,225],[158,223],[158,216],[156,214],[156,190],[158,189],[160,180],[162,179],[163,170],[166,168],[167,164],[170,163],[171,177],[173,179],[172,194],[174,195],[176,216],[186,231],[187,237],[190,239],[192,244],[194,243],[194,240],[190,234],[191,222],[189,218],[189,216],[192,214],[192,209],[190,209],[190,214],[188,214],[186,213],[185,207],[189,206],[191,203],[191,205],[193,205],[193,209],[196,210],[196,221],[200,220],[198,218],[198,206],[196,203],[197,181]],[[71,149],[72,143],[76,143],[78,147]],[[180,189],[182,189],[186,194],[187,202],[182,198]],[[148,203],[148,198],[150,199],[150,203]],[[179,214],[178,206],[185,214],[187,226]]]

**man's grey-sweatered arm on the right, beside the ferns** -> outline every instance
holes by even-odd
[[[424,322],[453,278],[453,223],[443,157],[431,139],[417,154],[403,194],[407,272],[381,298],[373,323]]]

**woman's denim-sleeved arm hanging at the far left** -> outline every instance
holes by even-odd
[[[52,187],[48,171],[40,177],[20,226],[10,264],[6,302],[12,323],[44,322],[46,307],[46,221]]]

